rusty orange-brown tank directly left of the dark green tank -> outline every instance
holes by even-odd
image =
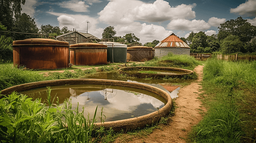
[[[107,64],[107,45],[78,43],[70,45],[70,63],[73,65]]]

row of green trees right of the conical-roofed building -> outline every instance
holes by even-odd
[[[248,53],[256,54],[256,26],[238,17],[227,20],[218,27],[218,34],[207,36],[205,32],[191,32],[189,37],[180,38],[185,41],[190,52],[212,53],[219,51],[223,54]]]

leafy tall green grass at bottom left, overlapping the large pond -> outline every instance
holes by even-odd
[[[78,107],[72,110],[71,101],[53,104],[48,87],[46,104],[40,99],[32,101],[26,95],[12,92],[0,99],[1,143],[92,143],[112,141],[112,130],[94,127]],[[83,109],[84,110],[84,109]],[[101,111],[102,112],[102,111]],[[102,134],[102,135],[100,135]],[[104,135],[104,137],[103,137]]]

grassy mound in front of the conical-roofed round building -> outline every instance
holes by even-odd
[[[156,67],[176,67],[193,70],[200,62],[196,61],[194,57],[189,55],[174,55],[168,54],[160,59],[146,61],[144,66]]]

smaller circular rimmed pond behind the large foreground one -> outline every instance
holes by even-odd
[[[138,78],[183,77],[193,71],[170,67],[124,67],[118,70],[121,74]]]

